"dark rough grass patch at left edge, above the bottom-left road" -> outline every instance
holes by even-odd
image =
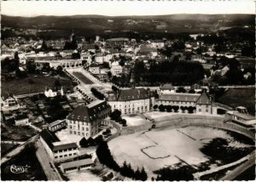
[[[38,131],[29,126],[12,126],[9,128],[1,126],[1,139],[3,140],[26,141],[36,134],[38,134]]]

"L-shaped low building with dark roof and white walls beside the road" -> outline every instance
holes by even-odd
[[[78,156],[79,146],[75,142],[61,141],[54,132],[43,129],[40,133],[40,141],[44,145],[49,158],[54,162],[62,162]]]

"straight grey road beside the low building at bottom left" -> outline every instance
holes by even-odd
[[[38,161],[44,169],[44,173],[47,176],[47,179],[51,181],[62,180],[60,174],[55,168],[52,160],[49,158],[49,155],[45,151],[44,145],[41,143],[40,140],[37,141],[36,146],[38,147],[36,155],[38,157]]]

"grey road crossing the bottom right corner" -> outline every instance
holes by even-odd
[[[239,176],[241,173],[243,173],[247,168],[252,167],[255,164],[255,152],[253,152],[252,156],[250,156],[249,160],[247,162],[244,162],[234,170],[230,171],[229,173],[226,173],[226,175],[220,179],[220,180],[232,180],[235,179],[237,176]]]

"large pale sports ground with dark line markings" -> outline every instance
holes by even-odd
[[[209,157],[200,149],[215,138],[228,139],[232,147],[241,147],[241,143],[234,141],[224,130],[198,127],[161,128],[129,134],[109,141],[108,145],[119,165],[126,161],[134,169],[144,166],[151,178],[155,177],[155,170],[180,162],[195,169],[205,163],[214,168],[212,163],[211,166],[209,164]]]

